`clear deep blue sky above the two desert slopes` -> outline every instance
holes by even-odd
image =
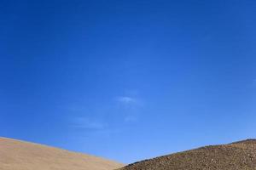
[[[253,0],[2,0],[0,135],[129,163],[256,138]]]

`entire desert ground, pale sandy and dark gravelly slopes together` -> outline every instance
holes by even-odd
[[[42,144],[0,138],[0,170],[255,170],[256,139],[208,145],[127,166]]]

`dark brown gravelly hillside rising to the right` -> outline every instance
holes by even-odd
[[[256,170],[256,139],[160,156],[119,170]]]

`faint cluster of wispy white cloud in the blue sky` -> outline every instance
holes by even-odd
[[[139,122],[142,110],[143,100],[137,95],[120,95],[113,97],[108,107],[102,104],[93,111],[73,110],[77,112],[70,115],[68,122],[76,133],[107,135]]]

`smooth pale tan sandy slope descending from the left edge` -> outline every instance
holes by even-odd
[[[0,138],[0,170],[113,170],[122,164],[96,156]]]

